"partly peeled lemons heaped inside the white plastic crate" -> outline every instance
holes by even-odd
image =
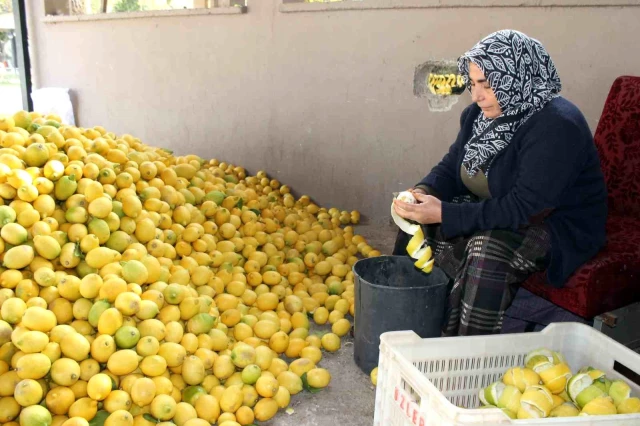
[[[640,413],[640,398],[624,380],[592,367],[574,375],[561,353],[546,348],[531,351],[524,367],[508,369],[478,397],[481,408],[500,408],[512,419]]]

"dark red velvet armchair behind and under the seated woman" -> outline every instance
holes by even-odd
[[[523,287],[583,318],[640,300],[640,77],[616,79],[594,136],[609,192],[607,244],[564,288],[545,273]]]

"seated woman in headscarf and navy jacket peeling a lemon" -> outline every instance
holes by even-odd
[[[562,287],[605,243],[607,193],[591,131],[559,95],[553,61],[535,39],[493,33],[458,61],[474,104],[442,161],[394,201],[423,224],[451,278],[443,334],[499,333],[521,282],[547,270]],[[394,254],[406,254],[401,233]]]

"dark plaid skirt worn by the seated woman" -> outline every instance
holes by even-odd
[[[450,278],[443,336],[496,334],[520,284],[546,269],[551,237],[544,224],[480,231],[445,239],[440,225],[423,225],[435,265]],[[393,254],[406,255],[411,236],[400,231]]]

